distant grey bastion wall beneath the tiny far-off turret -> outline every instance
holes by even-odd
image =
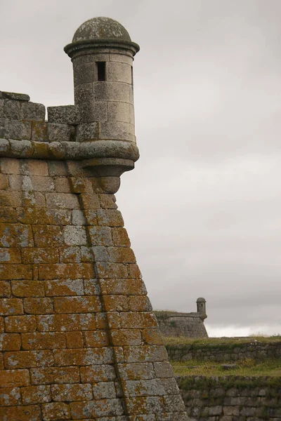
[[[163,336],[208,338],[200,313],[154,312]]]

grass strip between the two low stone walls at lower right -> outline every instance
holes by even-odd
[[[232,366],[227,363],[214,363],[214,361],[188,360],[184,362],[171,361],[175,375],[204,375],[204,376],[281,376],[281,359],[266,359],[265,361],[255,361],[254,359],[244,359],[237,361],[233,368],[223,368]]]

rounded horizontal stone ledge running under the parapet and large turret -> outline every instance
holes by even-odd
[[[93,158],[122,158],[136,162],[139,158],[139,152],[136,144],[124,140],[48,143],[32,140],[0,139],[0,156],[74,161]]]

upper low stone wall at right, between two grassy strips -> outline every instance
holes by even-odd
[[[166,345],[169,359],[185,361],[200,359],[205,361],[238,361],[241,359],[265,359],[281,357],[281,340],[273,342],[256,342],[249,338],[247,343],[225,344],[188,344]]]

